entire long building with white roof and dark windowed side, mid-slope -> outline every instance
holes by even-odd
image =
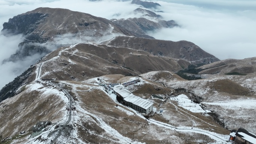
[[[117,99],[121,99],[125,105],[133,108],[134,110],[145,114],[149,114],[152,111],[153,102],[141,98],[140,96],[133,95],[123,85],[114,86],[113,90],[114,94],[117,96]]]

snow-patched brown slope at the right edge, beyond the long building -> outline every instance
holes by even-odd
[[[163,72],[150,72],[141,76],[175,89],[176,95],[186,94],[190,99],[196,101],[199,99],[201,104],[206,105],[206,110],[218,114],[219,123],[225,128],[243,127],[255,132],[256,113],[253,109],[256,108],[256,94],[253,74],[246,76],[203,74],[201,77],[205,79],[181,81],[173,77],[161,78],[161,73]]]

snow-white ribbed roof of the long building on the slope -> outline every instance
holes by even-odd
[[[151,102],[147,99],[141,98],[140,96],[133,95],[130,91],[128,91],[122,85],[114,86],[114,91],[117,92],[119,95],[121,95],[125,101],[131,102],[131,103],[138,105],[139,107],[142,107],[146,110],[151,105],[153,105],[153,102]]]

